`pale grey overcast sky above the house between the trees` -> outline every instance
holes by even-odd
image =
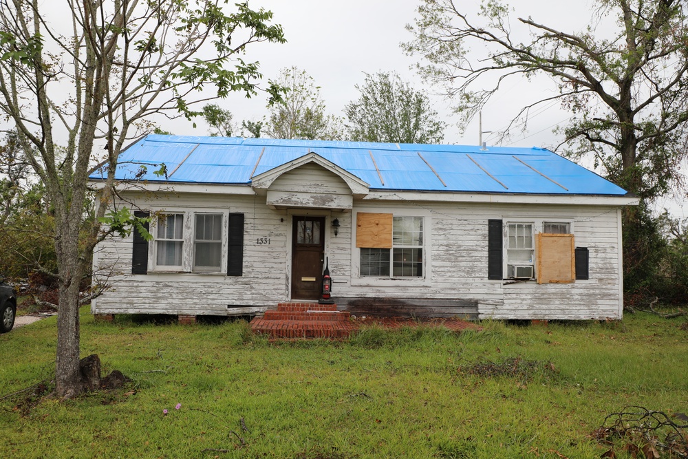
[[[512,3],[520,16],[533,15],[555,23],[566,18],[570,25],[575,8],[566,6],[566,3],[576,2],[516,0]],[[475,8],[477,1],[458,0],[457,4]],[[400,48],[401,42],[413,38],[405,30],[405,25],[413,23],[416,17],[416,0],[251,0],[250,5],[252,8],[261,6],[275,14],[274,21],[283,25],[287,43],[252,45],[247,57],[260,62],[266,78],[275,78],[281,69],[292,65],[305,70],[314,78],[316,85],[321,86],[321,97],[330,114],[343,116],[343,107],[358,98],[355,86],[363,84],[363,72],[395,71],[405,81],[413,83],[416,89],[436,92],[432,87],[424,87],[410,68],[417,58],[406,56]],[[520,96],[526,91],[533,94],[539,90],[535,86],[534,83],[518,81],[506,85],[506,90],[495,96],[484,110],[483,130],[497,131],[505,127],[510,120],[509,114],[514,114],[527,102]],[[456,120],[451,116],[449,103],[440,96],[432,96],[432,100],[435,109],[449,122],[444,142],[477,145],[477,120],[462,134],[455,127]],[[262,97],[246,100],[236,95],[222,101],[222,105],[233,112],[237,122],[242,119],[259,120],[266,114]],[[528,132],[514,136],[504,145],[553,145],[552,127],[566,118],[568,115],[559,110],[557,104],[551,104],[533,118]],[[175,129],[175,133],[177,131]],[[206,132],[207,128],[198,123],[193,134]],[[485,134],[483,140],[491,143],[489,134]]]

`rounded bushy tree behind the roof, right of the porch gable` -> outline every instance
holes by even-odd
[[[351,140],[439,143],[447,123],[437,119],[429,98],[396,73],[365,74],[358,100],[344,107]]]

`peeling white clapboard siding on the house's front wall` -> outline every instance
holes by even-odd
[[[277,178],[270,189],[351,195],[336,175],[305,165]],[[353,209],[272,209],[264,195],[169,193],[131,195],[141,209],[244,214],[241,277],[222,274],[131,275],[131,237],[99,244],[94,264],[111,273],[111,286],[92,306],[95,313],[255,314],[290,299],[292,215],[326,217],[325,255],[335,299],[464,300],[474,314],[494,319],[605,319],[621,315],[619,213],[611,206],[490,204],[354,200]],[[424,277],[358,277],[357,212],[424,217]],[[330,222],[338,219],[334,237]],[[566,221],[576,246],[590,250],[589,280],[572,284],[488,280],[488,220]],[[269,239],[269,244],[259,241]],[[154,244],[152,242],[151,244]]]

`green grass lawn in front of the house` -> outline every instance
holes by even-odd
[[[86,307],[81,323],[82,356],[133,383],[65,403],[0,400],[0,456],[599,458],[610,447],[591,434],[608,414],[688,413],[685,319],[286,343],[252,337],[244,321],[96,323]],[[0,335],[0,397],[50,380],[55,345],[55,317]],[[514,371],[491,371],[504,368]]]

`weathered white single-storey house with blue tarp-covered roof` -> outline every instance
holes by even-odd
[[[621,318],[638,200],[546,149],[150,135],[116,179],[154,240],[99,244],[94,314],[259,314],[327,266],[355,314]]]

